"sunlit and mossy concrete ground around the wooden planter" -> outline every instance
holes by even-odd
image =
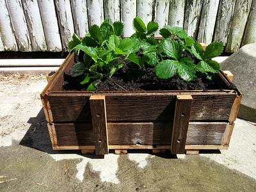
[[[0,191],[256,191],[256,127],[237,119],[228,150],[195,156],[54,151],[44,76],[0,76]]]

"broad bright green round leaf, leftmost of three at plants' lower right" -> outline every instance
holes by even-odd
[[[178,65],[179,62],[174,60],[161,61],[155,67],[156,76],[159,79],[168,79],[176,74]]]

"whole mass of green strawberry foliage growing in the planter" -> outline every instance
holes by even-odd
[[[71,68],[71,76],[80,79],[86,90],[95,91],[102,78],[111,78],[124,65],[128,67],[127,76],[134,81],[147,68],[154,68],[159,79],[178,75],[185,81],[220,70],[212,58],[223,51],[221,42],[213,42],[203,51],[202,45],[182,28],[164,26],[160,29],[163,39],[157,40],[153,36],[159,28],[156,22],[148,22],[146,26],[136,17],[133,27],[136,32],[131,38],[121,37],[122,22],[111,24],[109,20],[100,26],[93,25],[83,38],[74,34],[68,51],[75,51],[79,60]],[[188,54],[193,54],[196,60],[191,60]]]

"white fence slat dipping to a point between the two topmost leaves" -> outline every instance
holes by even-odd
[[[152,20],[153,0],[137,0],[137,16],[147,25]]]

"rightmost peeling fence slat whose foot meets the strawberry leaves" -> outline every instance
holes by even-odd
[[[227,44],[235,4],[236,0],[220,0],[214,28],[214,41],[223,42],[224,45]]]

